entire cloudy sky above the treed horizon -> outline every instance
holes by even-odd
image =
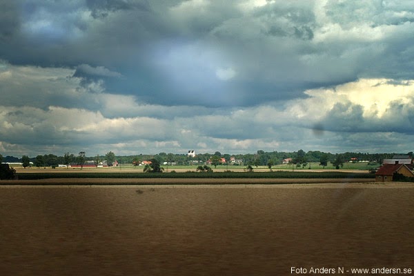
[[[401,152],[411,0],[2,0],[0,154]]]

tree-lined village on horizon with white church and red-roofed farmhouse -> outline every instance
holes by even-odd
[[[0,155],[1,156],[1,155]],[[55,155],[38,155],[36,158],[27,161],[26,166],[50,166],[52,168],[108,168],[118,167],[121,164],[132,164],[133,166],[148,166],[151,164],[150,159],[157,159],[163,166],[185,166],[185,165],[230,165],[230,166],[275,166],[278,164],[302,166],[305,168],[309,164],[311,168],[311,162],[319,162],[319,165],[324,165],[322,159],[326,158],[326,162],[329,160],[332,164],[339,160],[337,168],[342,168],[344,163],[366,163],[374,164],[375,169],[375,181],[398,181],[401,179],[413,179],[413,153],[408,152],[407,155],[395,155],[395,154],[368,154],[368,153],[355,153],[346,152],[343,154],[331,154],[319,151],[304,152],[298,150],[297,152],[264,152],[263,150],[257,150],[256,154],[246,155],[222,155],[220,152],[215,152],[213,155],[209,153],[203,153],[196,155],[195,150],[188,150],[184,155],[174,155],[159,153],[158,155],[135,155],[135,156],[119,156],[115,157],[113,152],[108,152],[106,157],[110,157],[109,161],[106,159],[97,157],[85,157],[85,152],[79,152],[79,157],[70,155],[69,159],[63,163],[63,157],[57,157]],[[28,157],[27,157],[28,158]],[[80,159],[79,159],[80,158]],[[115,159],[116,158],[116,159]],[[1,163],[8,164],[8,166],[24,166],[23,160],[17,157],[2,157]],[[42,159],[42,161],[39,161]],[[39,163],[40,162],[40,163]]]

